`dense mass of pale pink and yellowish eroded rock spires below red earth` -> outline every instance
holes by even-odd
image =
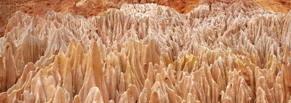
[[[0,102],[291,102],[291,11],[190,13],[125,4],[99,16],[18,11],[0,38]]]

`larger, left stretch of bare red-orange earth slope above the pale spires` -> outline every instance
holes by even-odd
[[[1,0],[0,1],[0,37],[4,36],[8,20],[16,11],[31,17],[44,18],[47,11],[60,12],[63,15],[83,15],[93,17],[111,8],[120,8],[123,4],[156,3],[175,8],[179,13],[187,14],[201,0]],[[183,4],[183,5],[181,5]]]

